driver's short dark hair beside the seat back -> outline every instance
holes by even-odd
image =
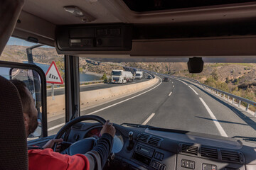
[[[18,79],[11,79],[10,81],[12,84],[14,84],[14,86],[16,86],[16,89],[18,90],[18,94],[21,97],[23,113],[26,113],[30,118],[31,112],[29,108],[30,107],[29,103],[31,102],[31,98],[26,93],[26,84],[23,81],[20,81]]]

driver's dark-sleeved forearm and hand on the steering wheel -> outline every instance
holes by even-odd
[[[102,136],[98,140],[97,145],[90,152],[85,154],[90,162],[90,170],[102,169],[107,162],[107,157],[110,154],[113,137],[115,135],[115,129],[112,123],[110,123],[110,120],[107,120],[105,125],[103,125],[100,133]]]

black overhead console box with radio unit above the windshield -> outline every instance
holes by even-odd
[[[58,53],[68,51],[129,51],[132,49],[132,24],[114,23],[56,28]]]

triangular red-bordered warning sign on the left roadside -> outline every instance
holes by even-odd
[[[46,83],[63,84],[63,79],[61,78],[60,72],[58,72],[58,68],[54,61],[50,64],[50,67],[46,72]]]

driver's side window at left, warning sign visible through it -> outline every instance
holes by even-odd
[[[28,49],[30,49],[30,53]],[[0,56],[0,60],[36,64],[36,66],[43,69],[45,75],[48,74],[46,76],[48,136],[55,135],[65,124],[64,55],[58,55],[54,47],[11,37]],[[0,68],[0,74],[8,79],[10,79],[10,72],[11,79],[21,79],[26,83],[36,101],[36,92],[32,88],[34,85],[32,82],[37,80],[35,77],[31,77],[33,72],[15,68],[9,68],[9,70]],[[23,79],[22,77],[29,77],[29,79]],[[36,102],[36,105],[39,105],[39,103]]]

